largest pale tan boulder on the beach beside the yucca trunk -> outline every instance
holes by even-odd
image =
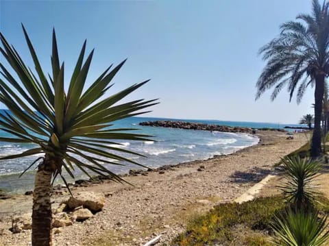
[[[105,196],[102,193],[83,191],[75,197],[70,197],[66,204],[71,209],[84,206],[84,208],[97,212],[105,205]]]

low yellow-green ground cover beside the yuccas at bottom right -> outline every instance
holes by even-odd
[[[327,213],[328,199],[321,197],[320,201],[315,206]],[[286,206],[281,195],[261,197],[243,204],[220,204],[188,223],[186,232],[170,245],[270,245],[270,223],[274,214],[280,214]]]

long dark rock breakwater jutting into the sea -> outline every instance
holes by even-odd
[[[180,128],[186,130],[242,132],[248,134],[255,134],[256,131],[256,129],[252,127],[231,127],[228,125],[215,125],[215,124],[194,123],[194,122],[186,122],[186,121],[144,121],[139,123],[139,125],[151,126],[151,127],[171,127],[171,128]],[[260,128],[257,130],[273,130],[273,131],[285,132],[285,130],[280,128]]]

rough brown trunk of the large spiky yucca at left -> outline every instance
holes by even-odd
[[[36,172],[32,208],[32,245],[49,246],[51,243],[51,177],[55,162],[45,158]]]

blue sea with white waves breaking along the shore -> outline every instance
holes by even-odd
[[[256,123],[239,121],[213,121],[213,120],[184,120],[184,119],[161,119],[147,117],[131,117],[114,122],[114,126],[121,128],[136,128],[141,134],[154,136],[148,141],[117,141],[123,149],[129,149],[141,153],[146,157],[123,154],[123,156],[134,160],[147,167],[156,168],[168,164],[178,164],[191,160],[205,160],[213,156],[234,153],[239,149],[256,145],[259,139],[256,136],[244,133],[208,132],[201,130],[183,130],[175,128],[141,126],[142,121],[188,121],[195,123],[207,123],[228,126],[254,127],[254,128],[283,128],[279,123]],[[297,125],[293,125],[297,126]],[[8,136],[0,131],[0,136]],[[0,142],[0,156],[21,153],[35,147],[33,144],[25,143],[3,143]],[[17,158],[13,160],[0,161],[0,190],[8,193],[24,193],[33,190],[35,170],[27,171],[23,176],[19,175],[39,156]],[[119,165],[107,164],[108,169],[114,173],[127,173],[130,169],[141,169],[141,167],[128,162],[118,162]],[[123,165],[121,165],[123,164]],[[68,177],[66,175],[66,177]],[[75,171],[75,180],[87,179],[83,173]],[[60,179],[58,181],[60,182]],[[69,182],[74,182],[70,180]]]

